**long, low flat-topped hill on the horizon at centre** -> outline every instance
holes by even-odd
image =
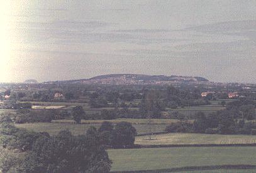
[[[100,75],[89,79],[58,81],[60,83],[85,83],[104,85],[165,85],[182,82],[208,82],[199,76],[164,76],[164,75],[137,75],[137,74],[110,74]],[[57,81],[55,81],[57,82]],[[55,83],[50,82],[50,83]]]

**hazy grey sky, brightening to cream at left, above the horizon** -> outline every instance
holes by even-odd
[[[109,73],[256,83],[256,1],[9,1],[1,80]]]

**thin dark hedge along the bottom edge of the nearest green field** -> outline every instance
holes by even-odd
[[[111,171],[111,173],[155,173],[155,172],[180,172],[191,170],[218,170],[218,169],[256,169],[256,165],[206,165],[206,166],[188,166],[177,167],[170,169],[157,170],[125,170],[125,171]]]

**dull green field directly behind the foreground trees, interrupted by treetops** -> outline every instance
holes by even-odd
[[[90,126],[99,128],[101,123],[20,123],[15,124],[18,128],[26,128],[35,132],[48,132],[50,135],[57,135],[60,130],[69,129],[74,135],[83,135]],[[138,134],[148,134],[150,132],[164,132],[166,125],[158,124],[150,127],[145,124],[133,125]]]

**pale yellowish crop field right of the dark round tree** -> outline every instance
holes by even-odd
[[[172,145],[172,144],[256,144],[256,135],[219,135],[219,134],[160,134],[136,137],[135,144]],[[256,148],[255,148],[256,149]]]

